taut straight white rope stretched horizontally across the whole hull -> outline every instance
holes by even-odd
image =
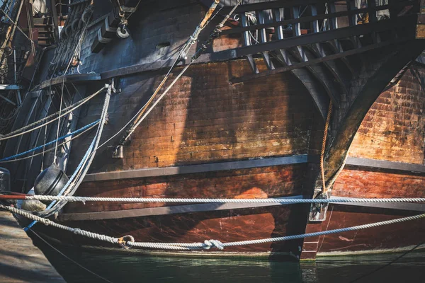
[[[382,198],[365,199],[334,197],[332,199],[204,199],[204,198],[149,198],[149,197],[74,197],[53,195],[0,195],[0,200],[40,200],[66,202],[171,202],[171,203],[268,203],[268,204],[310,204],[310,203],[387,203],[425,202],[425,198]]]

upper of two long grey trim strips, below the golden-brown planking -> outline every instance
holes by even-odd
[[[147,168],[131,171],[114,171],[105,173],[87,174],[84,182],[104,181],[104,180],[119,180],[131,178],[146,178],[156,176],[169,176],[191,173],[205,173],[224,170],[239,170],[257,167],[281,166],[311,162],[315,156],[307,154],[296,156],[285,156],[275,158],[254,159],[246,161],[229,161],[220,163],[207,163],[188,166],[173,166],[164,168]]]

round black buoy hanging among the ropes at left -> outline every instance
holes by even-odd
[[[64,171],[52,164],[35,179],[35,195],[58,195],[68,180],[68,176]]]

